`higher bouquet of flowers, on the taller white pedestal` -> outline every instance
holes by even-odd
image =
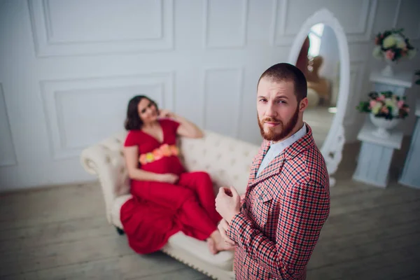
[[[412,59],[416,55],[416,49],[402,31],[404,29],[379,32],[374,38],[373,57],[389,62],[398,62],[402,58]]]

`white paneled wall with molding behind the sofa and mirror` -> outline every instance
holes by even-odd
[[[260,143],[255,86],[285,62],[319,8],[346,30],[353,108],[370,89],[373,35],[405,27],[419,45],[419,1],[2,0],[0,190],[93,179],[78,155],[123,128],[127,99],[145,93],[204,128]],[[418,55],[402,68],[414,70]],[[414,93],[412,90],[412,94]],[[416,88],[418,92],[418,88]],[[411,133],[409,120],[407,133]]]

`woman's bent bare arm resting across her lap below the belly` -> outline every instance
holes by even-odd
[[[125,165],[130,179],[139,181],[158,181],[166,183],[175,183],[178,176],[175,174],[157,174],[147,172],[138,168],[139,148],[137,146],[129,146],[124,148]]]

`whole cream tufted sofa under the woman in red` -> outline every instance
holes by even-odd
[[[123,157],[126,132],[113,135],[83,150],[81,163],[85,170],[99,178],[106,204],[106,217],[120,234],[120,208],[130,199],[130,185]],[[205,171],[219,186],[235,186],[245,193],[253,157],[259,146],[221,134],[205,131],[202,139],[179,139],[181,160],[188,171]],[[213,279],[235,279],[232,272],[233,253],[224,251],[211,255],[204,241],[183,235],[172,236],[162,251]]]

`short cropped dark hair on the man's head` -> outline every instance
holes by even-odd
[[[262,78],[269,78],[275,83],[281,81],[292,81],[295,85],[295,95],[297,102],[300,102],[302,99],[307,97],[308,85],[307,80],[304,77],[304,73],[300,71],[299,68],[292,64],[288,63],[278,63],[269,67],[265,70],[264,73],[260,76],[258,84]],[[257,85],[258,87],[258,85]]]

